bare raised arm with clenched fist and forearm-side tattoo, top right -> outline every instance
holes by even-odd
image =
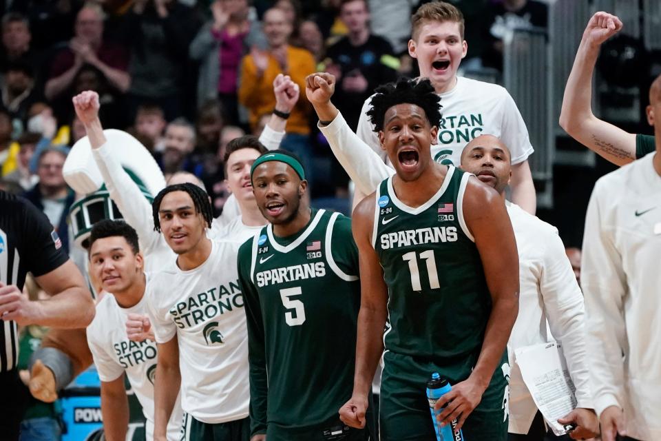
[[[569,136],[616,165],[636,159],[636,135],[594,116],[591,100],[592,74],[599,49],[621,29],[622,21],[612,14],[597,12],[592,16],[578,45],[560,112],[560,126]]]

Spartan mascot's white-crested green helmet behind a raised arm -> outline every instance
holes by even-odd
[[[151,201],[165,187],[158,164],[144,145],[121,130],[104,130],[107,142],[112,144],[112,155],[140,188],[145,198]],[[98,170],[92,146],[87,136],[79,139],[72,147],[64,163],[63,174],[67,184],[78,195],[84,195],[72,205],[70,222],[76,245],[82,246],[90,236],[92,225],[103,219],[121,219],[122,214],[110,199]]]

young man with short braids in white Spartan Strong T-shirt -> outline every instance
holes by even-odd
[[[165,187],[154,198],[154,228],[176,261],[147,287],[158,343],[154,440],[181,389],[186,441],[249,439],[248,336],[237,280],[239,244],[211,240],[211,203],[190,183]]]

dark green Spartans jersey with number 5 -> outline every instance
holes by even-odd
[[[351,396],[360,308],[350,219],[313,210],[275,238],[268,225],[238,256],[249,336],[251,430],[310,427]],[[270,431],[271,429],[269,429]]]

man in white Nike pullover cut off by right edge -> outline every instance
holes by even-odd
[[[602,440],[661,439],[661,76],[655,151],[600,178],[585,219],[581,284]]]

